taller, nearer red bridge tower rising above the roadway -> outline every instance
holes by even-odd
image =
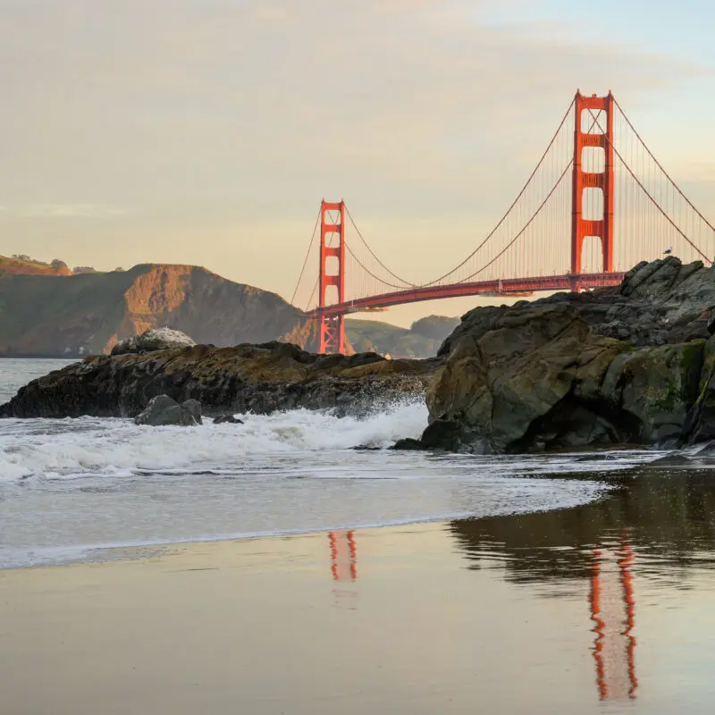
[[[584,97],[576,92],[574,128],[574,170],[572,183],[572,218],[571,218],[571,273],[581,273],[581,254],[584,240],[589,236],[601,239],[603,273],[613,272],[613,194],[615,192],[613,172],[613,110],[614,99],[609,92],[607,97]],[[602,129],[601,117],[606,114],[606,128],[596,133],[585,132],[582,124],[584,113],[589,124]],[[598,117],[598,122],[596,118]],[[583,171],[585,147],[601,147],[605,153],[605,169],[593,173]],[[600,219],[585,219],[583,214],[584,189],[601,189],[603,192],[603,215]]]

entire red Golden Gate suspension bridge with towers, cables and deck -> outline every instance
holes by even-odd
[[[592,290],[618,285],[639,261],[669,252],[710,264],[715,227],[610,92],[576,92],[517,198],[457,266],[409,282],[377,257],[344,201],[323,200],[291,303],[318,322],[320,352],[345,353],[349,313],[479,294]]]

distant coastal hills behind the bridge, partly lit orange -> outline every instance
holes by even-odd
[[[206,268],[145,264],[72,272],[61,261],[23,258],[0,257],[0,356],[107,353],[117,341],[161,326],[218,347],[280,340],[317,349],[315,321],[301,310]],[[456,323],[433,316],[417,321],[415,330],[361,320],[347,321],[347,328],[356,349],[428,357]]]

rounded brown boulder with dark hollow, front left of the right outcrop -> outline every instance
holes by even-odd
[[[625,441],[629,425],[597,400],[622,349],[594,335],[575,307],[517,304],[490,319],[489,329],[477,324],[459,338],[428,388],[430,420],[451,425],[440,438],[444,449],[454,439],[463,445],[466,429],[480,452],[487,444],[505,452]]]

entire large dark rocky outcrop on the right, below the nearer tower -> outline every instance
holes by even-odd
[[[715,437],[715,272],[668,257],[618,288],[476,308],[444,341],[425,449],[536,452]]]

